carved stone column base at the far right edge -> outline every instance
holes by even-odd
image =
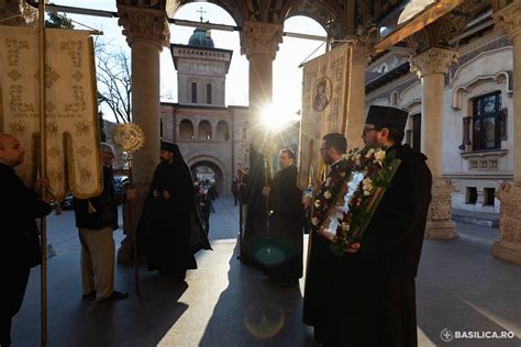
[[[503,182],[496,197],[501,201],[499,239],[492,244],[492,257],[521,264],[521,182]]]

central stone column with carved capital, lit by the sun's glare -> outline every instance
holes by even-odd
[[[245,21],[241,32],[241,54],[250,61],[250,110],[252,128],[260,130],[263,108],[273,101],[273,60],[282,42],[282,25]],[[264,132],[256,131],[252,143],[259,148]]]

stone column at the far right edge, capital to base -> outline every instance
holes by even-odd
[[[513,46],[513,182],[503,182],[496,197],[501,202],[499,239],[492,256],[521,264],[521,1],[494,13],[495,29],[508,34]]]

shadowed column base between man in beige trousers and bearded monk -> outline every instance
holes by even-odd
[[[121,242],[118,248],[118,264],[133,265],[134,264],[134,235],[140,222],[141,211],[146,200],[149,190],[148,184],[136,184],[137,194],[135,200],[123,205],[123,231],[125,238]],[[131,211],[131,206],[133,211]]]

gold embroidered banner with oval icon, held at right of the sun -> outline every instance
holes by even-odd
[[[352,47],[343,44],[303,66],[298,178],[303,189],[321,170],[322,136],[345,133],[351,57]]]

